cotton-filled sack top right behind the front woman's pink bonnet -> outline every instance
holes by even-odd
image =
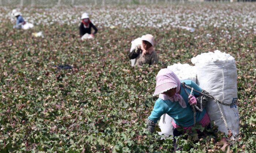
[[[169,70],[172,70],[178,76],[180,81],[189,79],[193,82],[196,82],[195,66],[190,66],[189,64],[175,63],[171,66],[167,66],[167,68]]]

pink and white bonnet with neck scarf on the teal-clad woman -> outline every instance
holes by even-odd
[[[175,95],[173,97],[162,94],[163,92],[173,88],[176,88]],[[179,102],[182,108],[186,108],[187,105],[181,95],[178,94],[179,91],[180,79],[178,78],[178,76],[173,71],[167,68],[161,69],[157,74],[157,86],[155,87],[155,92],[153,96],[159,94],[159,98],[163,100],[170,99],[170,101],[172,102]]]

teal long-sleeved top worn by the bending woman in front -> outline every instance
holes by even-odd
[[[184,81],[181,81],[181,83],[182,82],[185,82],[186,85],[193,87],[197,91],[202,91],[202,89],[195,82],[191,80],[184,80]],[[181,87],[180,95],[184,99],[187,107],[182,108],[178,102],[172,102],[169,99],[163,100],[158,98],[157,101],[155,102],[154,109],[150,114],[150,116],[148,117],[148,119],[157,123],[158,119],[163,114],[168,114],[170,117],[173,118],[173,121],[181,127],[188,127],[188,126],[194,125],[193,109],[188,102],[188,94],[185,92],[182,84],[180,85],[180,87]],[[191,92],[190,89],[186,88],[186,90],[188,91],[188,93]],[[195,97],[200,96],[200,94],[196,93],[195,91],[193,91],[192,95],[194,95]],[[203,118],[205,113],[206,113],[205,109],[202,112],[197,111],[196,122],[199,122]]]

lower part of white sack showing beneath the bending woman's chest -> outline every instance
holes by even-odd
[[[169,137],[170,135],[173,136],[172,120],[173,120],[173,118],[170,117],[168,114],[163,114],[161,116],[160,121],[158,123],[158,125],[161,129],[161,132],[158,132],[159,135],[164,134],[165,137]]]

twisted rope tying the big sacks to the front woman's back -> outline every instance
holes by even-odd
[[[222,118],[222,120],[224,121],[224,124],[225,124],[227,130],[230,131],[230,130],[229,130],[229,127],[228,127],[228,125],[227,125],[227,121],[226,121],[226,119],[225,119],[225,117],[224,117],[224,114],[223,114],[223,112],[222,112],[221,106],[220,106],[219,104],[221,103],[222,105],[231,106],[231,105],[236,105],[236,102],[235,102],[235,103],[231,103],[231,104],[224,103],[224,102],[222,102],[222,101],[219,101],[219,100],[216,99],[215,97],[213,97],[211,94],[204,94],[204,93],[202,93],[202,92],[200,92],[200,91],[195,90],[195,89],[192,88],[192,87],[187,86],[185,82],[182,83],[182,86],[184,87],[184,90],[185,90],[185,92],[188,94],[188,96],[189,96],[190,94],[192,94],[193,91],[195,91],[195,92],[197,92],[197,93],[200,93],[200,94],[202,94],[202,95],[205,95],[205,96],[207,96],[207,97],[213,99],[214,101],[216,101],[216,102],[217,102],[217,105],[218,105],[218,107],[219,107],[219,111],[221,112],[221,118]],[[190,94],[188,93],[188,91],[186,90],[186,88],[191,89]],[[189,100],[189,99],[188,99],[188,100]],[[192,109],[193,109],[193,112],[194,112],[194,114],[193,114],[194,126],[196,125],[196,110],[198,110],[198,111],[200,111],[200,112],[203,111],[202,97],[201,97],[201,99],[200,99],[200,107],[201,107],[201,108],[197,107],[196,104],[192,105]]]

